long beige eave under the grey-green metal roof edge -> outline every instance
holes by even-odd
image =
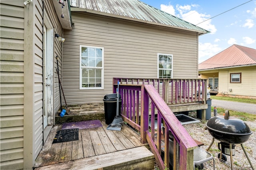
[[[136,19],[136,18],[130,18],[130,17],[126,17],[126,16],[109,14],[109,13],[100,12],[100,11],[96,11],[96,10],[89,10],[89,9],[85,9],[85,8],[71,7],[70,10],[71,10],[71,12],[72,11],[74,11],[74,12],[88,12],[88,13],[92,13],[92,14],[99,14],[99,15],[103,15],[103,16],[110,16],[110,17],[114,17],[114,18],[120,18],[120,19],[125,19],[125,20],[142,22],[142,23],[152,24],[152,25],[156,25],[156,26],[164,26],[164,27],[169,27],[169,28],[176,28],[176,29],[178,28],[178,29],[181,29],[181,30],[198,32],[199,36],[201,36],[203,34],[209,33],[208,31],[199,31],[199,30],[188,29],[188,28],[183,28],[183,27],[178,27],[178,26],[171,26],[171,25],[166,25],[166,24],[160,24],[160,23],[156,23],[156,22],[150,22],[150,21],[146,21],[146,20],[139,20],[139,19]]]

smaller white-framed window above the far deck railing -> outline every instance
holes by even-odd
[[[172,55],[158,53],[158,78],[172,78]]]

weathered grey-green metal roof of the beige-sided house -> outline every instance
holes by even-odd
[[[86,11],[154,25],[190,30],[198,32],[199,35],[209,33],[207,30],[139,0],[70,0],[70,6],[71,11]]]

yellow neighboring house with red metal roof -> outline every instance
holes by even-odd
[[[198,65],[218,95],[256,98],[256,49],[232,45]]]

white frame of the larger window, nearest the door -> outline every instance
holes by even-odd
[[[88,47],[88,48],[99,48],[102,49],[102,67],[85,67],[82,66],[82,47]],[[80,74],[80,82],[79,82],[79,88],[80,90],[88,90],[88,89],[104,89],[104,47],[95,47],[95,46],[89,46],[89,45],[80,45],[79,47],[79,74]],[[101,87],[82,87],[82,69],[83,68],[93,68],[93,69],[101,69]]]

